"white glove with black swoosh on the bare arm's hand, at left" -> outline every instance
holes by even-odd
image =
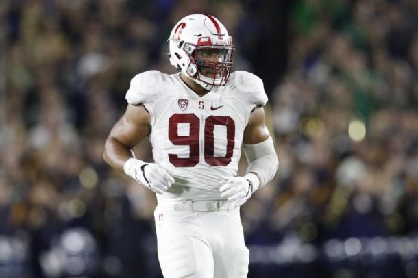
[[[126,175],[158,194],[167,191],[174,184],[173,177],[156,163],[145,163],[132,157],[123,164],[123,170]]]

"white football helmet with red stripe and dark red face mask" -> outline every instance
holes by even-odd
[[[170,62],[178,71],[206,90],[226,84],[235,47],[232,37],[217,18],[190,14],[174,26],[168,41]],[[216,54],[216,62],[204,59],[213,54]]]

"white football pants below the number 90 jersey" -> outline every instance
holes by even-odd
[[[211,210],[222,207],[219,202],[158,204],[154,217],[164,278],[247,277],[239,208]]]

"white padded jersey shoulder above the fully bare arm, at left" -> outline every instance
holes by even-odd
[[[158,94],[156,84],[162,84],[162,75],[163,73],[159,71],[145,71],[135,75],[126,92],[127,103],[132,105],[152,103]]]

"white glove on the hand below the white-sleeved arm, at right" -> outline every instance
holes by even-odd
[[[223,184],[219,191],[221,198],[227,199],[232,206],[241,207],[260,186],[260,179],[252,173],[244,177],[232,177]]]

